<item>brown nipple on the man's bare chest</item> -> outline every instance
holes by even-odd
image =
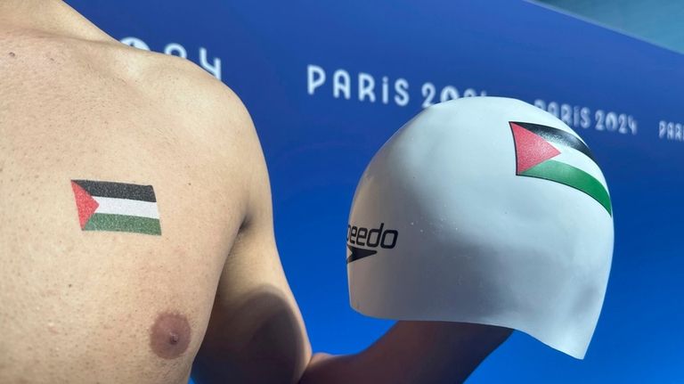
[[[175,359],[183,355],[190,345],[190,323],[181,314],[163,313],[150,330],[150,347],[163,359]]]

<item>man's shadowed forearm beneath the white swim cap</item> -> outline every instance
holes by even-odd
[[[460,383],[512,330],[472,323],[398,322],[357,355],[316,354],[310,383]]]

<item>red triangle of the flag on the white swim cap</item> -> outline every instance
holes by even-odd
[[[540,135],[533,134],[516,123],[510,123],[516,142],[517,175],[560,154],[553,145]]]

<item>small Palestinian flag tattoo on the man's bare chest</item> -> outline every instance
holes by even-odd
[[[84,231],[161,234],[151,185],[71,180]]]

